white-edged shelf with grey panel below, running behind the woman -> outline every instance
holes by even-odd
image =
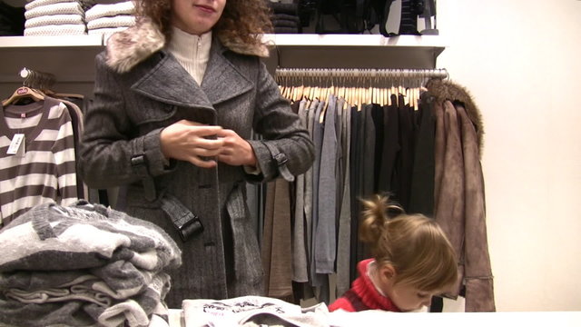
[[[445,49],[439,35],[263,35],[275,45],[265,63],[273,73],[282,68],[436,67]],[[94,81],[94,57],[103,51],[101,35],[0,36],[0,86],[22,82],[23,67],[52,73],[57,83]]]

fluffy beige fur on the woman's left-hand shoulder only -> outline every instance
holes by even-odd
[[[162,49],[165,36],[150,20],[142,19],[107,40],[107,65],[118,73],[129,72],[136,64]]]

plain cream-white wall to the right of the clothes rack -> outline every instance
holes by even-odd
[[[581,310],[581,1],[438,0],[483,114],[497,311]]]

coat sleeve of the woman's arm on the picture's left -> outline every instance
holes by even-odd
[[[94,100],[84,116],[79,170],[90,187],[107,188],[167,173],[160,144],[161,129],[140,136],[127,114],[119,74],[108,68],[104,54],[95,59]],[[133,163],[143,163],[135,165]]]

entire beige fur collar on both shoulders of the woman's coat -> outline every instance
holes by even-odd
[[[218,38],[227,49],[237,54],[261,57],[269,55],[266,45],[245,45],[226,37]],[[165,35],[149,19],[140,19],[126,30],[115,33],[107,40],[107,65],[118,73],[127,73],[150,55],[162,50]]]

